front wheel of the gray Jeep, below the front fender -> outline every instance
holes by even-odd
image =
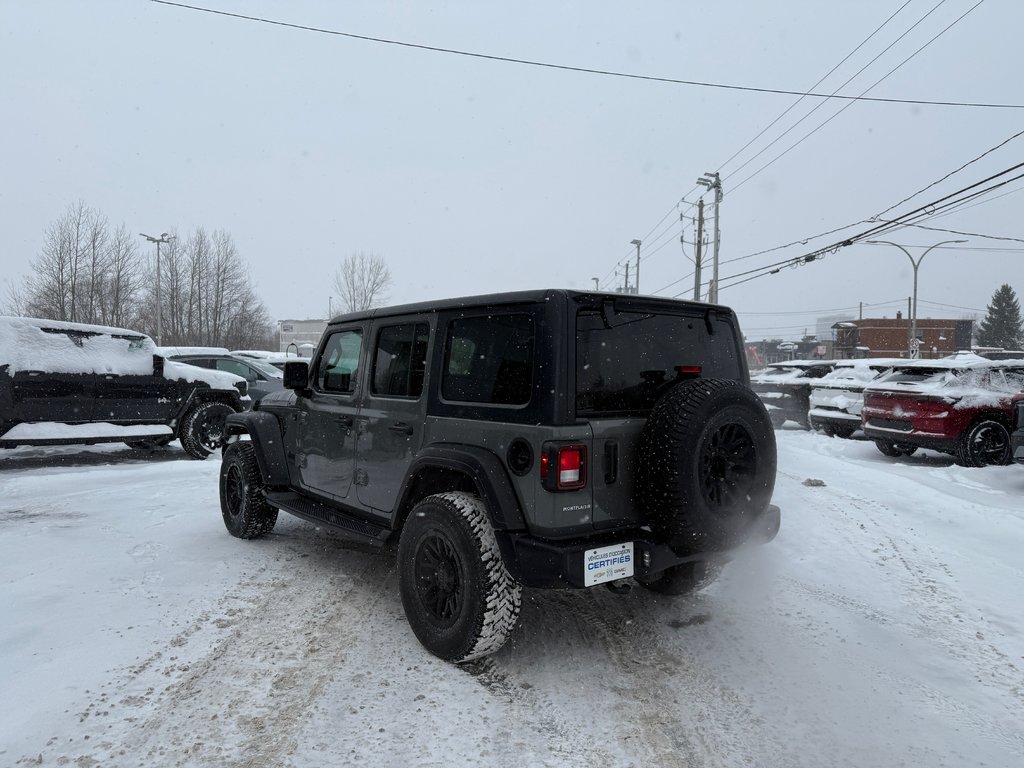
[[[232,442],[220,465],[220,514],[227,532],[259,539],[278,522],[278,510],[266,503],[263,478],[251,442]]]

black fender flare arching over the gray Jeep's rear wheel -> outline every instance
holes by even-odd
[[[420,451],[406,473],[398,495],[398,510],[408,509],[417,478],[422,472],[433,468],[458,472],[473,482],[476,493],[487,508],[495,530],[526,529],[522,508],[504,463],[492,452],[476,445],[443,442],[427,445]]]

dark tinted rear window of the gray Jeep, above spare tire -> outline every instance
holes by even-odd
[[[711,315],[581,310],[577,315],[577,412],[635,414],[699,367],[706,379],[742,380],[731,323]]]

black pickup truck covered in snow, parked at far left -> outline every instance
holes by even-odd
[[[0,447],[125,442],[205,459],[245,379],[165,359],[148,336],[106,326],[0,317]]]

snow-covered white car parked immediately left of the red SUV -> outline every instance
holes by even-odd
[[[830,437],[850,437],[860,429],[864,387],[899,362],[881,357],[837,361],[835,369],[811,386],[807,412],[811,429]]]

